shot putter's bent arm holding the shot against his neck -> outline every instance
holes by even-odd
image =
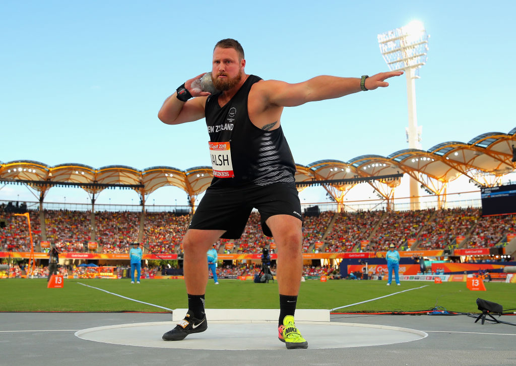
[[[167,124],[180,124],[185,122],[197,121],[204,117],[204,106],[206,104],[206,97],[209,93],[191,87],[193,81],[198,80],[204,74],[200,74],[185,82],[185,88],[190,92],[192,97],[186,102],[180,101],[177,93],[173,93],[168,97],[161,109],[158,112],[158,118]]]

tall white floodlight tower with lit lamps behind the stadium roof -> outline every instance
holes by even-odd
[[[420,21],[378,35],[380,52],[391,71],[404,70],[407,77],[409,126],[406,129],[410,149],[421,149],[421,128],[417,126],[416,85],[419,69],[426,63],[428,35]],[[419,209],[419,185],[410,179],[411,210]]]

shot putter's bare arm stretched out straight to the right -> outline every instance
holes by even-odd
[[[374,90],[379,87],[387,87],[389,83],[385,79],[399,76],[403,71],[381,72],[365,79],[365,88]],[[276,80],[268,80],[260,83],[260,91],[270,104],[282,107],[294,107],[307,102],[333,99],[347,96],[361,91],[360,78],[316,76],[308,81],[298,84],[288,84]]]

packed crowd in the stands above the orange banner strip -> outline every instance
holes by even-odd
[[[41,241],[40,215],[29,211],[34,247]],[[319,216],[305,217],[303,225],[303,252],[314,250],[323,242],[325,252],[361,250],[361,242],[368,243],[362,250],[382,251],[390,244],[399,250],[445,249],[454,247],[492,247],[503,241],[507,234],[516,232],[516,215],[481,217],[479,208],[420,210],[403,212],[362,211],[357,213],[321,212]],[[98,252],[127,253],[130,244],[138,241],[140,212],[95,213]],[[332,222],[332,219],[334,221]],[[47,241],[56,244],[60,252],[88,251],[91,214],[82,211],[45,210]],[[187,230],[189,215],[173,213],[146,213],[142,244],[150,252],[181,253],[182,238]],[[30,251],[27,220],[12,212],[0,212],[0,250]],[[465,237],[463,243],[456,238]],[[272,249],[273,238],[263,234],[260,214],[252,212],[242,236],[238,240],[221,239],[215,248],[219,253],[261,253]],[[228,249],[226,245],[229,244]],[[231,249],[231,245],[233,246]],[[45,249],[43,249],[44,251]],[[147,251],[147,250],[146,250]],[[273,250],[271,251],[273,252]]]

